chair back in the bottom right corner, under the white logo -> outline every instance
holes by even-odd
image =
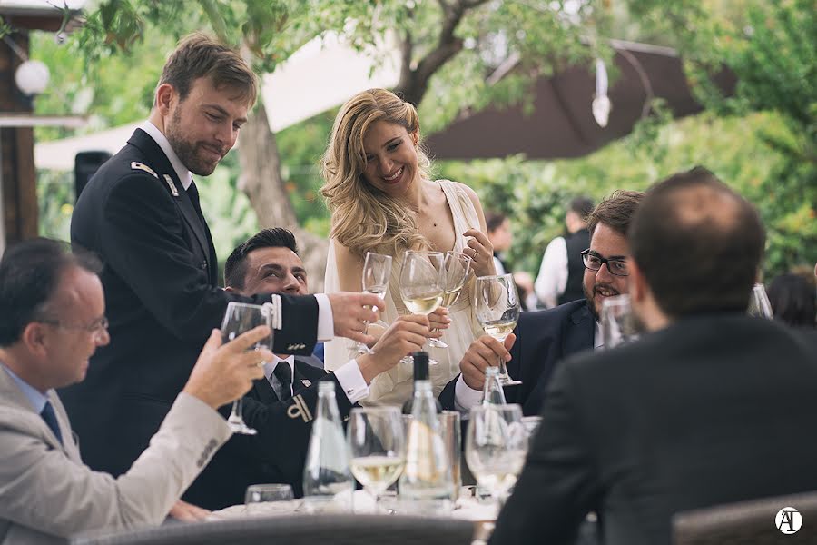
[[[789,520],[794,513],[777,514],[790,507],[800,515],[795,533]],[[778,528],[778,525],[780,528]],[[817,492],[763,498],[684,511],[673,517],[674,545],[772,545],[817,543]]]

